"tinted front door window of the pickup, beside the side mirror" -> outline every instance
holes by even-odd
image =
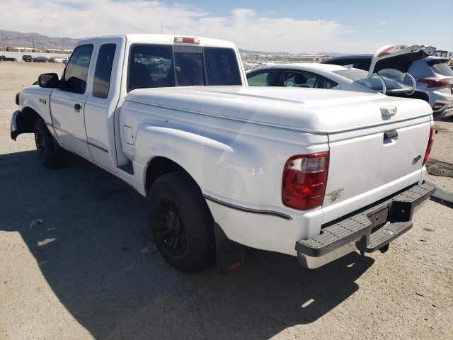
[[[92,52],[93,45],[79,46],[72,52],[71,59],[64,69],[62,91],[85,93]]]

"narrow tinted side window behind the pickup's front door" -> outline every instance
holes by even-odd
[[[115,50],[115,44],[104,44],[99,49],[98,60],[96,60],[96,69],[94,70],[93,79],[93,96],[95,97],[108,97]]]

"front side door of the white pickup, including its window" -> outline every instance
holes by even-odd
[[[52,92],[50,110],[59,141],[74,152],[92,159],[86,144],[84,106],[93,45],[76,47],[62,76],[62,86]]]

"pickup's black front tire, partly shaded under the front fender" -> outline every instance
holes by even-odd
[[[35,144],[40,162],[49,169],[57,169],[69,158],[71,153],[60,147],[42,118],[35,122]]]

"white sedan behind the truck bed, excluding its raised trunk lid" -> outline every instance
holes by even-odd
[[[273,64],[247,73],[249,86],[292,86],[314,89],[338,89],[359,92],[396,94],[411,91],[411,87],[362,69],[331,64]],[[383,86],[385,82],[385,89]]]

